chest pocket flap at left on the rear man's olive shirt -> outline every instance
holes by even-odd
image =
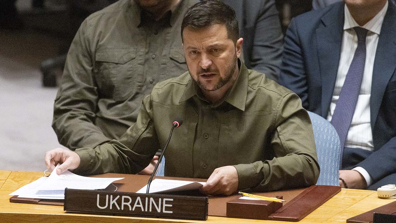
[[[105,48],[95,54],[95,61],[124,64],[136,57],[136,49]]]

